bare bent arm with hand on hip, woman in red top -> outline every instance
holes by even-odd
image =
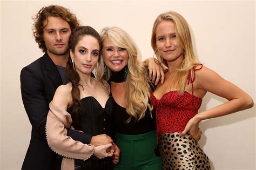
[[[220,77],[219,74],[205,66],[201,70],[197,71],[196,80],[198,81],[199,89],[226,98],[228,101],[195,115],[190,121],[188,121],[181,135],[185,135],[187,132],[192,134],[196,133],[201,120],[221,117],[253,106],[253,100],[246,92],[242,91],[239,87]],[[196,88],[197,87],[195,87],[195,89]]]

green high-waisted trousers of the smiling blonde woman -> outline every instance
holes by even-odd
[[[156,131],[138,135],[116,134],[116,144],[121,149],[120,160],[114,170],[160,170],[160,157],[154,154]]]

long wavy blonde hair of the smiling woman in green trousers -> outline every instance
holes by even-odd
[[[122,29],[114,26],[112,28],[104,28],[100,33],[100,44],[103,46],[105,38],[109,38],[111,42],[118,46],[125,48],[129,55],[128,73],[125,88],[125,103],[126,112],[130,118],[126,120],[129,123],[133,118],[140,120],[145,116],[147,107],[152,111],[152,106],[149,104],[151,88],[149,85],[149,78],[146,76],[147,69],[138,57],[138,50],[132,38]],[[103,58],[103,57],[101,57]],[[111,77],[111,71],[107,69],[106,80]]]

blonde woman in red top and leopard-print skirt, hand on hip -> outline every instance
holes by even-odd
[[[151,46],[157,59],[169,69],[164,83],[151,94],[163,169],[210,169],[208,157],[197,143],[200,121],[245,110],[253,106],[253,100],[197,62],[188,24],[179,13],[171,11],[157,17]],[[228,101],[198,113],[207,92]]]

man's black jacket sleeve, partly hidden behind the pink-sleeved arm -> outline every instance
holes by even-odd
[[[42,78],[29,67],[22,69],[20,80],[23,105],[33,127],[32,136],[46,141],[45,125],[49,112],[49,101],[46,98],[45,88],[49,87],[45,87]],[[91,134],[73,130],[68,130],[68,135],[84,144],[90,144],[92,138]]]

